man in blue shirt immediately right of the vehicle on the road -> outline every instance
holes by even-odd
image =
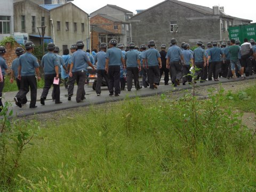
[[[107,43],[101,43],[100,52],[98,52],[95,57],[95,63],[97,66],[97,83],[96,83],[95,91],[98,96],[100,96],[101,94],[100,87],[101,87],[103,78],[105,79],[108,85],[108,75],[107,75],[107,71],[105,70],[106,50],[107,50]]]

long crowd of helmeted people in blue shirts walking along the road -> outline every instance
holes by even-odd
[[[192,51],[188,43],[177,45],[177,39],[172,38],[170,47],[161,45],[161,51],[156,49],[155,41],[151,40],[148,45],[136,46],[130,43],[124,51],[124,45],[118,44],[116,39],[108,43],[101,43],[100,51],[83,51],[84,42],[78,41],[71,45],[69,50],[63,50],[60,56],[60,49],[54,43],[47,45],[47,53],[41,60],[44,70],[44,88],[41,95],[41,105],[45,105],[47,94],[53,85],[52,99],[55,104],[60,101],[60,79],[62,78],[65,88],[68,91],[68,100],[74,94],[74,85],[77,83],[76,102],[85,99],[84,85],[87,82],[88,67],[97,70],[97,84],[95,92],[101,94],[102,81],[105,80],[109,90],[109,96],[119,96],[121,91],[132,90],[134,81],[135,89],[142,87],[158,89],[161,77],[164,75],[164,85],[171,84],[179,86],[181,83],[204,83],[205,81],[219,81],[219,77],[244,79],[256,71],[256,45],[254,39],[244,39],[240,46],[238,40],[231,39],[222,42],[207,43],[207,49],[203,42],[197,42],[197,48]],[[30,89],[30,108],[36,108],[37,81],[41,80],[39,63],[33,55],[33,42],[25,44],[25,50],[17,47],[17,59],[11,67],[11,83],[17,83],[19,92],[14,98],[15,104],[19,107],[27,103],[27,93]],[[167,51],[166,51],[167,49]],[[3,58],[6,50],[0,46],[0,106],[2,103],[2,92],[4,87],[4,76],[7,70]],[[142,77],[140,84],[139,77]],[[127,85],[126,85],[127,83]],[[126,86],[126,88],[125,88]]]

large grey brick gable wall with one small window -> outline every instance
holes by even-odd
[[[170,32],[170,21],[177,21],[178,33]],[[203,43],[220,40],[218,15],[205,15],[169,1],[135,15],[131,23],[132,39],[138,45],[151,39],[158,47],[162,43],[169,45],[172,37],[177,38],[178,44],[187,42],[192,46],[199,40]]]

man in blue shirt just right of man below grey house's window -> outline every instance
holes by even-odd
[[[190,67],[194,66],[193,62],[193,54],[189,51],[189,44],[185,43],[183,44],[183,58],[184,58],[184,63],[183,63],[183,69],[182,69],[182,85],[186,85],[186,82],[191,83],[192,82],[192,77],[189,75],[190,74]]]

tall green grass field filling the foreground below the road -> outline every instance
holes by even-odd
[[[45,123],[0,191],[256,191],[255,138],[241,121],[255,88],[126,99]]]

